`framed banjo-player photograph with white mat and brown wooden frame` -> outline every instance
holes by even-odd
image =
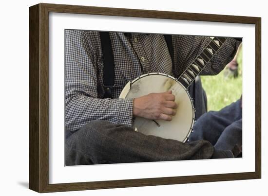
[[[261,18],[29,8],[30,189],[253,178]]]

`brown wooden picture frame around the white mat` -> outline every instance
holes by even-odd
[[[49,184],[49,12],[255,25],[255,172]],[[261,178],[261,18],[39,3],[29,8],[29,188],[39,193]]]

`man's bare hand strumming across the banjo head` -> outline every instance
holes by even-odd
[[[138,97],[133,102],[133,115],[146,119],[171,121],[176,114],[177,104],[172,91],[150,93]]]

